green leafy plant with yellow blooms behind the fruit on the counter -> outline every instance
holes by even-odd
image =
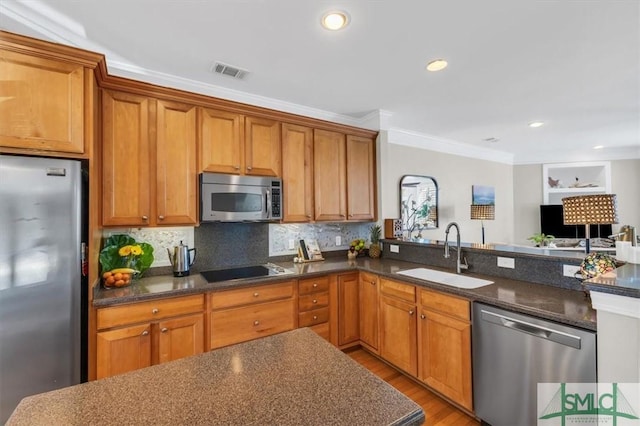
[[[112,235],[100,251],[102,272],[116,268],[132,268],[141,276],[153,263],[153,247],[148,243],[138,243],[125,234]]]

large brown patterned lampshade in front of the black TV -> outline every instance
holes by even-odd
[[[618,223],[616,194],[578,195],[562,199],[565,225]]]

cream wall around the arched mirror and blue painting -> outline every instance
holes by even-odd
[[[380,132],[379,194],[380,218],[398,218],[398,186],[403,175],[431,176],[438,182],[439,228],[423,231],[427,239],[444,239],[444,229],[451,221],[458,222],[462,241],[482,242],[480,221],[469,219],[471,186],[495,187],[496,220],[484,221],[485,242],[513,241],[513,166],[492,161],[467,158],[441,152],[397,145],[387,132]]]

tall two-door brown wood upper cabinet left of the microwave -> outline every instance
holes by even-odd
[[[105,226],[193,225],[196,108],[103,91]]]

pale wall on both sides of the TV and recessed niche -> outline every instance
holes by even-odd
[[[542,164],[515,166],[514,244],[531,244],[527,237],[540,232]],[[640,159],[611,161],[611,192],[617,194],[619,224],[640,229]]]

